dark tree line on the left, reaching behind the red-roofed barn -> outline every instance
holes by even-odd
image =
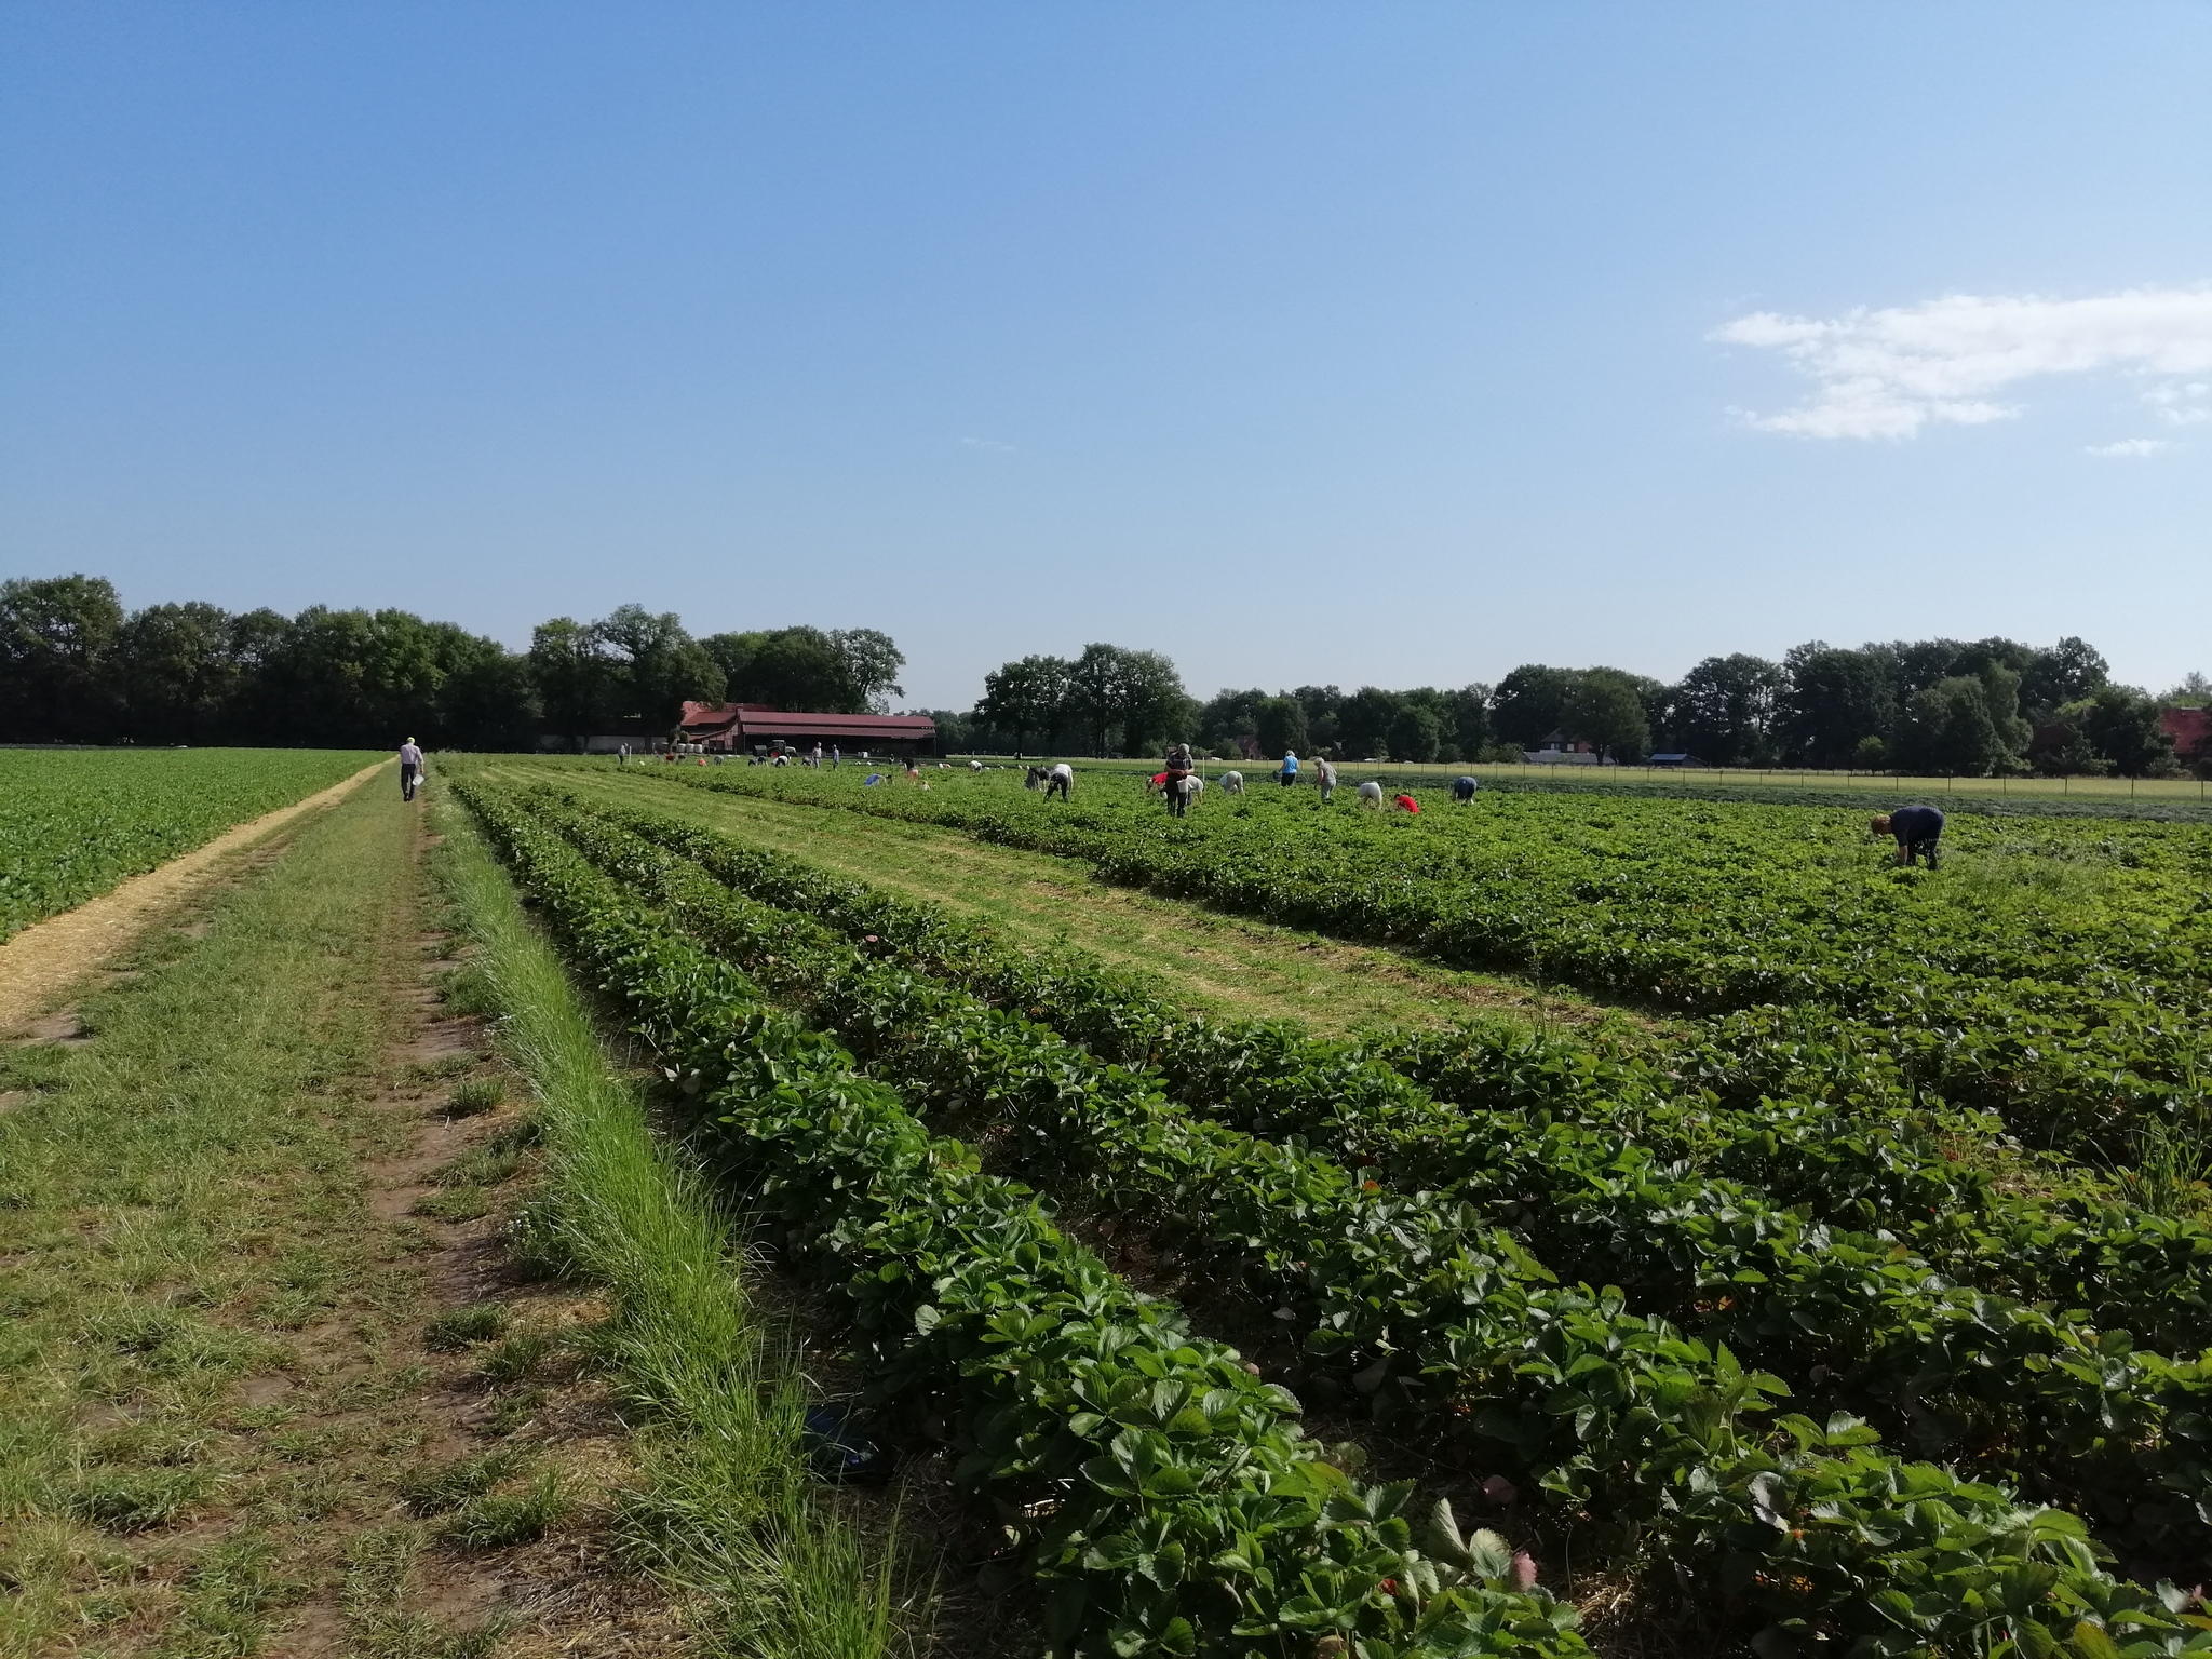
[[[905,664],[874,628],[695,639],[626,604],[553,617],[507,650],[407,611],[124,611],[102,577],[0,582],[0,741],[535,748],[606,726],[670,730],[686,699],[869,712]]]

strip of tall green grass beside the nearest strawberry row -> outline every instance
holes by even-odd
[[[551,947],[458,807],[438,805],[440,878],[480,945],[500,1035],[538,1095],[544,1177],[531,1248],[608,1287],[595,1336],[644,1418],[641,1486],[624,1509],[633,1555],[703,1599],[714,1648],[763,1659],[876,1659],[905,1650],[896,1542],[852,1524],[814,1484],[805,1394],[774,1360],[703,1177],[659,1139],[611,1064]],[[526,1336],[482,1367],[520,1380]],[[544,1502],[555,1502],[546,1495]],[[529,1524],[526,1504],[482,1524]],[[909,1601],[914,1597],[907,1597]]]

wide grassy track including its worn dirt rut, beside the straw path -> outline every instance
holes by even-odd
[[[422,849],[354,792],[0,1048],[0,1655],[690,1648]]]

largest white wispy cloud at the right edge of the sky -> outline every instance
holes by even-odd
[[[1911,438],[1931,422],[2006,420],[2020,407],[1997,396],[2042,374],[2205,374],[2212,288],[2137,288],[2101,299],[1953,294],[1836,319],[1752,312],[1712,338],[1781,352],[1818,383],[1812,403],[1745,414],[1747,425],[1798,438]],[[2146,396],[2177,425],[2205,418],[2197,407],[2203,385],[2161,380]]]

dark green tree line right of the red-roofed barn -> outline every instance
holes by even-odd
[[[1708,657],[1674,684],[1621,668],[1524,664],[1495,686],[1223,690],[1197,701],[1159,653],[1086,646],[1022,657],[984,677],[967,714],[933,710],[951,748],[1148,754],[1192,741],[1214,754],[1511,761],[1551,739],[1635,763],[1807,765],[1989,776],[2177,772],[2163,703],[2205,703],[2192,675],[2163,699],[2115,686],[2081,639],[1918,639],[1829,646],[1781,661]]]

